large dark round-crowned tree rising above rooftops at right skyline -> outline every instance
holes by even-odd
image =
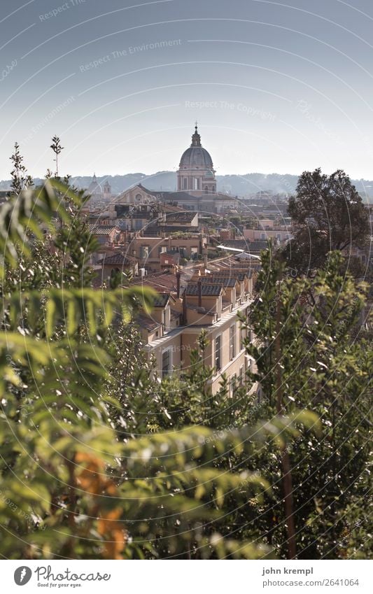
[[[304,171],[296,195],[289,199],[288,213],[294,239],[284,254],[297,274],[313,274],[332,250],[363,248],[370,234],[368,210],[342,170],[330,176],[321,169]]]

